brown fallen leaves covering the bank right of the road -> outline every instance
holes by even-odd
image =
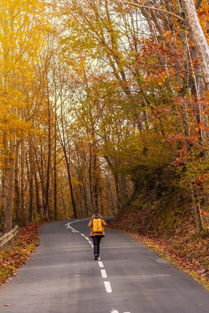
[[[160,256],[169,260],[175,266],[190,273],[195,280],[208,287],[209,282],[209,236],[197,237],[195,228],[190,221],[175,227],[174,230],[166,229],[163,233],[150,231],[143,218],[136,222],[138,212],[124,213],[110,223],[111,229],[122,231],[146,245],[152,247]],[[143,234],[139,234],[142,232]]]

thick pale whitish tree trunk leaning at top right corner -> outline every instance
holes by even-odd
[[[209,46],[199,23],[194,2],[192,0],[182,0],[181,4],[185,13],[186,24],[198,48],[205,83],[209,90]]]

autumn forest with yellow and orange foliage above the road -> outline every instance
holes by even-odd
[[[208,16],[207,0],[1,0],[2,233],[131,206],[208,229]]]

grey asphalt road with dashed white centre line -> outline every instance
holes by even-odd
[[[106,229],[96,261],[88,220],[40,232],[31,260],[0,288],[1,313],[209,312],[209,291],[132,237]]]

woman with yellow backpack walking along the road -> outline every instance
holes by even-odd
[[[91,227],[90,237],[93,239],[94,244],[94,259],[99,258],[100,241],[102,237],[105,236],[104,227],[106,222],[102,218],[99,211],[94,211],[89,222],[89,227]]]

